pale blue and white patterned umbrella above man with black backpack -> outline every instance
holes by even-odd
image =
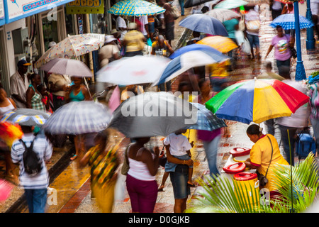
[[[36,109],[18,108],[8,111],[2,116],[0,121],[18,123],[20,126],[42,126],[50,114]]]

